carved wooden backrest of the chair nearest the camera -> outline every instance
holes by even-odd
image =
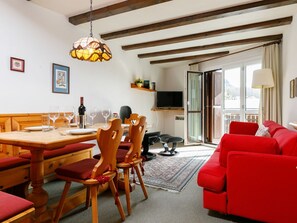
[[[123,135],[123,128],[120,119],[109,121],[108,129],[99,128],[97,131],[97,143],[101,151],[101,157],[95,165],[91,178],[101,175],[106,170],[115,171],[116,154]]]

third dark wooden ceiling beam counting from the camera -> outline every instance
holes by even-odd
[[[206,39],[206,38],[211,38],[211,37],[218,37],[218,36],[228,35],[230,33],[240,33],[240,32],[252,31],[252,30],[272,28],[272,27],[277,27],[277,26],[284,26],[284,25],[291,24],[292,20],[293,20],[293,17],[290,16],[290,17],[285,17],[285,18],[280,18],[280,19],[268,20],[268,21],[264,21],[264,22],[257,22],[257,23],[251,23],[251,24],[246,24],[246,25],[241,25],[241,26],[234,26],[234,27],[225,28],[225,29],[218,29],[218,30],[207,31],[207,32],[202,32],[202,33],[194,33],[194,34],[190,34],[190,35],[173,37],[173,38],[168,38],[168,39],[125,45],[125,46],[122,46],[122,49],[123,50],[135,50],[135,49],[142,49],[142,48],[147,48],[147,47],[155,47],[155,46],[162,46],[162,45],[167,45],[167,44],[181,43],[181,42],[186,42],[186,41]]]

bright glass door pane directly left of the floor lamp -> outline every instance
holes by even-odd
[[[252,88],[253,72],[261,69],[261,64],[252,64],[246,66],[246,110],[258,110],[260,102],[260,89]]]

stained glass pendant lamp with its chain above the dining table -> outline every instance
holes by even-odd
[[[74,42],[70,55],[72,58],[83,61],[108,61],[112,58],[110,49],[105,43],[93,37],[92,12],[93,1],[90,0],[90,36],[80,38]]]

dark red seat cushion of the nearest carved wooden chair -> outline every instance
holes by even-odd
[[[60,176],[86,180],[90,178],[94,166],[98,163],[96,159],[83,159],[56,169]]]

